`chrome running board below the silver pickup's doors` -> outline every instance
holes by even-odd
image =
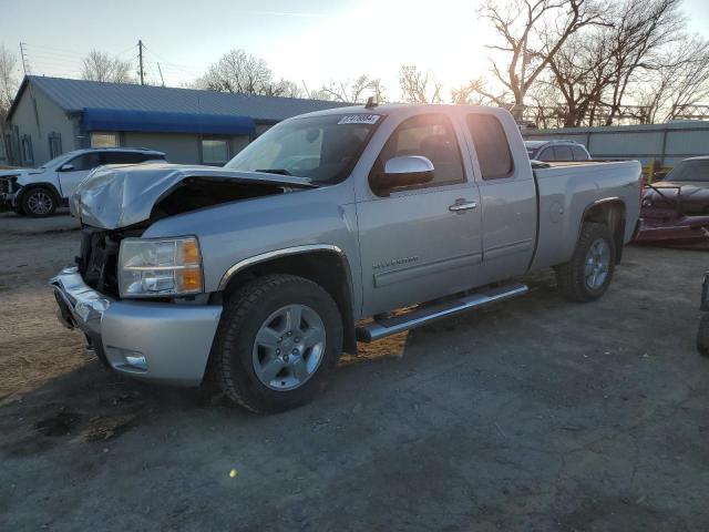
[[[494,288],[485,293],[475,293],[424,308],[417,308],[408,314],[373,321],[357,328],[357,339],[370,342],[405,330],[429,325],[441,318],[448,318],[472,308],[483,307],[491,303],[502,301],[521,296],[530,290],[526,285],[515,284]]]

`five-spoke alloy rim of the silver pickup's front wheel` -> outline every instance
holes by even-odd
[[[325,341],[325,324],[310,307],[279,308],[256,334],[251,355],[256,377],[271,390],[299,388],[320,366]]]

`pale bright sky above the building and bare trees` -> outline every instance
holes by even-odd
[[[78,78],[92,48],[134,59],[148,79],[192,81],[234,48],[266,59],[276,76],[309,89],[367,73],[398,98],[401,64],[454,86],[487,69],[480,0],[0,0],[0,43],[27,43],[32,73]],[[709,0],[685,0],[690,30],[709,37]]]

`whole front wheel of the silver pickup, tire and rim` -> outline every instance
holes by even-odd
[[[258,278],[226,301],[212,352],[233,401],[270,413],[312,400],[342,351],[342,319],[319,285],[292,275]]]

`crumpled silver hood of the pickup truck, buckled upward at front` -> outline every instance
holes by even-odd
[[[189,177],[309,188],[305,177],[238,172],[210,166],[166,163],[110,165],[94,170],[70,200],[71,213],[83,224],[104,229],[127,227],[148,219],[153,206]]]

